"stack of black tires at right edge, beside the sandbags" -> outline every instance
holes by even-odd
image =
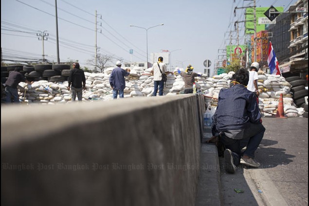
[[[305,96],[308,96],[308,90],[305,88],[306,80],[301,79],[299,76],[291,76],[287,77],[286,81],[291,84],[291,92],[293,93],[294,103],[297,105],[297,107],[304,107],[306,105]]]

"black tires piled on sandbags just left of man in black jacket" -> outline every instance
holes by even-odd
[[[70,65],[67,64],[38,64],[34,67],[24,66],[28,81],[48,80],[51,82],[66,81],[70,75]]]

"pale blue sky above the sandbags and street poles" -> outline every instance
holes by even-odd
[[[257,0],[256,6],[282,6],[296,0]],[[27,5],[26,5],[27,4]],[[102,19],[98,26],[97,45],[102,54],[122,57],[130,61],[146,60],[146,31],[144,28],[164,23],[148,30],[148,54],[163,50],[171,53],[172,66],[192,64],[196,72],[203,72],[203,61],[218,58],[218,49],[234,31],[234,22],[244,20],[244,9],[252,0],[57,0],[60,61],[78,60],[87,66],[94,56],[95,10]],[[13,31],[11,31],[13,30]],[[44,52],[56,62],[55,0],[1,0],[1,48],[3,58],[22,56],[38,59],[42,55],[42,41],[37,31],[49,33]],[[240,32],[243,37],[243,30]],[[115,60],[116,61],[116,60]],[[180,61],[183,61],[182,63]]]

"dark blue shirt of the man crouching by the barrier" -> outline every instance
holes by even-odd
[[[217,131],[245,129],[249,123],[260,124],[261,113],[254,93],[236,84],[221,89],[217,110],[213,116]]]

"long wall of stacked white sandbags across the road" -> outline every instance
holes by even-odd
[[[107,68],[104,73],[87,73],[86,91],[83,91],[84,100],[110,100],[112,99],[112,89],[109,85],[109,76],[113,67]],[[182,76],[175,69],[175,75],[167,75],[164,95],[182,94],[184,91],[184,81]],[[180,69],[183,71],[183,69]],[[125,77],[126,88],[125,97],[151,96],[154,89],[151,68],[146,70],[134,67],[130,75]],[[209,98],[206,104],[213,107],[218,105],[218,94],[221,89],[229,88],[234,72],[207,77],[196,77],[198,91]],[[19,83],[19,98],[28,102],[39,103],[66,103],[71,101],[71,91],[68,90],[68,81],[48,82],[46,80],[36,81],[29,87],[26,83]],[[299,112],[293,102],[291,84],[280,75],[269,75],[262,72],[258,73],[259,108],[266,115],[277,112],[280,94],[283,94],[284,110],[286,116],[298,116]],[[26,91],[26,94],[24,93]],[[265,111],[265,112],[264,112]]]

